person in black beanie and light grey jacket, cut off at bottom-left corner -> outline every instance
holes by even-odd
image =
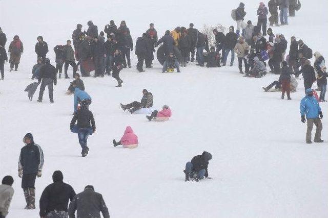
[[[11,199],[14,195],[12,184],[14,179],[11,176],[5,176],[0,185],[0,218],[5,218],[8,215]]]

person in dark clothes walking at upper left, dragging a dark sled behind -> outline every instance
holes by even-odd
[[[43,93],[45,91],[46,86],[48,86],[49,91],[49,99],[50,103],[54,103],[53,101],[53,85],[57,85],[57,77],[56,77],[56,68],[50,64],[50,60],[46,58],[45,65],[43,65],[40,69],[40,75],[38,78],[38,82],[41,82],[39,98],[37,102],[42,102]]]

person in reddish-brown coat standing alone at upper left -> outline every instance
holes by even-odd
[[[20,61],[20,55],[23,53],[23,43],[20,41],[19,36],[15,35],[13,38],[13,41],[9,45],[8,49],[8,55],[9,63],[10,63],[10,71],[14,68],[15,65],[15,71],[18,69],[18,64]]]

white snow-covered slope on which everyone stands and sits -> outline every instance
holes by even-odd
[[[302,38],[313,52],[328,54],[328,18],[323,1],[302,1],[302,9],[290,26],[273,28],[286,39]],[[326,217],[328,213],[327,143],[304,143],[306,127],[300,122],[299,101],[303,84],[299,80],[292,101],[280,100],[280,93],[264,93],[278,76],[243,78],[234,67],[200,68],[190,64],[181,74],[160,74],[160,64],[146,73],[124,69],[122,88],[111,77],[84,79],[92,96],[97,131],[89,137],[90,152],[80,157],[77,135],[69,130],[73,96],[67,96],[71,80],[60,79],[50,105],[47,91],[42,104],[30,102],[24,88],[31,83],[36,62],[36,37],[43,35],[52,48],[70,38],[77,23],[86,28],[93,20],[103,30],[109,20],[126,20],[134,41],[155,23],[158,35],[190,22],[201,29],[204,23],[234,25],[230,14],[238,1],[0,1],[0,26],[7,34],[6,49],[17,34],[25,52],[18,72],[6,71],[0,81],[0,177],[13,175],[15,195],[8,218],[37,217],[38,209],[24,210],[25,200],[17,175],[22,138],[32,132],[45,153],[42,178],[36,180],[36,199],[60,169],[64,181],[80,192],[87,184],[102,193],[112,217]],[[245,1],[246,19],[257,20],[258,1]],[[6,64],[6,69],[9,65]],[[70,76],[72,71],[69,72]],[[119,103],[141,98],[142,89],[154,95],[158,109],[167,104],[173,116],[169,122],[148,122],[144,115],[130,115]],[[327,104],[323,111],[326,141]],[[134,150],[113,148],[130,125],[139,137]],[[213,180],[184,182],[187,161],[211,152],[209,175]],[[36,205],[38,207],[38,203]]]

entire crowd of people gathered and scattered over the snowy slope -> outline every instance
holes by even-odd
[[[290,50],[288,41],[283,34],[275,35],[272,26],[289,25],[288,12],[290,17],[295,16],[295,10],[299,10],[300,3],[296,0],[270,0],[269,9],[263,2],[259,3],[257,10],[258,20],[254,26],[251,20],[244,22],[246,16],[245,4],[232,11],[232,18],[236,21],[235,27],[231,26],[229,32],[224,34],[222,31],[213,29],[215,36],[215,46],[209,47],[208,36],[194,28],[190,23],[189,28],[178,26],[174,30],[167,30],[158,39],[154,23],[150,23],[149,29],[138,37],[135,43],[135,55],[138,62],[136,69],[138,72],[145,72],[146,68],[152,68],[154,53],[157,49],[157,59],[163,65],[162,72],[172,72],[180,67],[187,67],[189,62],[197,61],[200,67],[221,67],[226,66],[228,56],[231,53],[230,66],[234,65],[235,54],[238,57],[238,69],[240,74],[245,77],[261,78],[271,72],[280,75],[278,81],[274,81],[268,87],[263,87],[265,92],[275,86],[276,90],[281,91],[281,99],[285,93],[287,99],[291,100],[291,92],[297,88],[297,80],[300,74],[303,76],[305,97],[300,103],[301,122],[307,119],[308,130],[306,133],[306,143],[312,143],[311,131],[313,124],[317,126],[314,141],[323,142],[321,139],[323,114],[319,102],[325,102],[325,92],[327,85],[327,72],[323,56],[319,52],[313,54],[312,49],[306,45],[302,39],[291,37]],[[278,9],[280,16],[278,16]],[[271,17],[268,18],[268,14]],[[267,29],[267,20],[270,28]],[[43,101],[45,87],[49,90],[50,103],[54,103],[53,85],[57,84],[57,77],[61,78],[64,66],[64,78],[69,79],[68,67],[73,68],[72,81],[68,87],[67,94],[74,93],[73,118],[70,129],[77,133],[78,141],[81,146],[81,155],[86,157],[89,152],[87,139],[96,131],[93,113],[89,110],[92,103],[91,96],[87,93],[81,77],[90,77],[90,72],[94,70],[93,77],[104,77],[105,74],[112,75],[121,87],[123,81],[119,73],[123,68],[131,68],[130,52],[133,51],[133,39],[126,21],[122,20],[117,28],[114,20],[105,26],[104,31],[98,33],[98,27],[90,20],[87,23],[88,30],[82,31],[83,25],[77,24],[72,34],[72,41],[69,39],[65,45],[54,47],[56,66],[50,63],[47,58],[49,52],[48,44],[42,36],[37,37],[35,53],[37,63],[32,69],[32,78],[37,79],[36,87],[40,85],[38,102]],[[106,38],[105,38],[105,34]],[[268,37],[268,39],[267,39]],[[20,57],[24,52],[23,43],[19,36],[15,35],[9,45],[8,56],[5,50],[7,38],[0,28],[0,71],[2,80],[4,79],[4,63],[10,62],[10,70],[18,70]],[[73,44],[73,47],[72,45]],[[204,52],[206,51],[206,52]],[[196,57],[195,57],[196,56]],[[312,57],[315,57],[314,65],[311,65]],[[76,63],[77,61],[77,63]],[[267,63],[268,62],[268,63]],[[205,63],[207,63],[205,65]],[[270,71],[267,70],[267,65]],[[244,70],[243,70],[244,68]],[[80,71],[80,74],[77,71]],[[295,75],[295,76],[294,76]],[[315,98],[315,91],[312,89],[314,82],[317,82],[320,97]],[[32,84],[31,84],[32,85]],[[31,86],[32,87],[32,86]],[[33,86],[33,93],[35,92]],[[32,93],[32,95],[33,95]],[[128,110],[131,114],[142,108],[152,108],[153,94],[147,89],[142,90],[140,102],[130,104],[120,104],[123,110]],[[30,98],[30,95],[29,95]],[[32,98],[30,98],[32,100]],[[80,106],[78,106],[80,104]],[[147,115],[149,121],[158,119],[159,121],[168,120],[172,112],[168,105],[164,105],[162,110],[153,110]],[[306,119],[305,119],[306,116]],[[77,123],[76,123],[77,122]],[[38,144],[34,142],[31,133],[26,134],[23,139],[26,144],[20,151],[18,161],[18,177],[22,178],[22,188],[26,199],[25,209],[35,209],[35,180],[42,177],[44,156]],[[136,148],[138,137],[132,128],[128,126],[121,139],[113,146],[123,145],[125,148]],[[208,178],[208,164],[212,159],[212,154],[203,152],[197,155],[190,162],[187,162],[185,181],[199,181]],[[40,217],[85,217],[89,214],[92,217],[100,217],[100,212],[104,217],[109,217],[109,212],[103,197],[95,192],[92,185],[87,185],[83,192],[76,195],[74,189],[63,182],[63,174],[60,171],[53,173],[53,183],[45,188],[40,198]],[[0,217],[8,214],[9,204],[14,190],[11,187],[13,178],[6,176],[0,185]],[[70,201],[70,204],[68,205]]]

